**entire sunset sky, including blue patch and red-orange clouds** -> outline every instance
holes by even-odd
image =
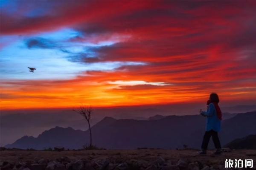
[[[255,9],[255,1],[0,0],[0,107],[191,104],[211,92],[256,104]]]

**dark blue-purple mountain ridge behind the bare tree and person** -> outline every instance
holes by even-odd
[[[221,143],[227,144],[256,132],[256,112],[240,113],[222,121]],[[200,115],[166,116],[157,120],[113,119],[105,117],[92,127],[93,144],[107,149],[137,147],[182,148],[183,144],[200,148],[205,118]],[[89,132],[55,127],[37,138],[24,136],[6,147],[44,149],[63,146],[81,148],[89,143]]]

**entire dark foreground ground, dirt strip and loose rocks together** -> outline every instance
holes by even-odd
[[[256,150],[214,155],[197,150],[0,151],[1,170],[224,170],[226,159],[253,159]],[[234,168],[235,169],[235,168]],[[246,168],[239,168],[244,170]]]

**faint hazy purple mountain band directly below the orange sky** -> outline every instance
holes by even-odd
[[[95,125],[105,116],[115,119],[147,120],[149,116],[157,114],[163,116],[177,115],[177,113],[179,116],[198,114],[198,108],[205,108],[205,103],[95,108],[96,114],[91,119],[91,125]],[[56,126],[87,130],[88,125],[83,117],[72,110],[73,108],[1,110],[0,146],[13,143],[25,135],[38,136],[44,130]],[[224,113],[245,113],[256,111],[256,105],[232,107],[221,105],[221,111]],[[223,116],[226,119],[226,115]],[[230,116],[235,116],[235,114],[230,114]],[[19,128],[17,128],[17,125],[19,125]]]

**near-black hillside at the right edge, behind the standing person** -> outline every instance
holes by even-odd
[[[231,149],[256,149],[256,135],[249,135],[241,139],[235,139],[226,144],[225,147],[229,147]]]

